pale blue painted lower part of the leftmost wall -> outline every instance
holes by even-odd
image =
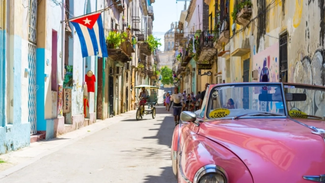
[[[5,40],[5,34],[2,35]],[[14,68],[9,68],[9,70],[13,70],[13,124],[7,125],[4,122],[4,127],[0,127],[0,154],[6,153],[11,150],[17,150],[19,148],[29,146],[30,145],[30,130],[31,125],[28,121],[22,122],[22,38],[19,36],[14,36],[13,42],[13,66]],[[5,43],[4,43],[5,45]],[[3,46],[4,53],[5,46]],[[2,60],[3,63],[8,62],[5,59],[5,56]],[[4,73],[1,73],[3,75]],[[3,81],[3,80],[2,80]],[[6,83],[6,81],[5,81]],[[4,86],[5,88],[5,86]],[[7,88],[4,89],[5,90]],[[5,109],[1,109],[5,110]],[[5,119],[3,119],[5,120]],[[2,120],[2,121],[3,121]]]

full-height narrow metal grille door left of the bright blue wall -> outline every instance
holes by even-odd
[[[37,22],[37,0],[31,0],[29,5],[29,37],[28,44],[28,121],[31,123],[31,135],[37,133],[36,128],[36,22]]]

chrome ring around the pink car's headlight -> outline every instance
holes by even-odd
[[[226,174],[226,171],[217,166],[217,165],[214,165],[214,164],[210,164],[210,165],[205,165],[203,166],[202,168],[200,168],[195,176],[194,176],[194,179],[193,179],[193,183],[199,183],[200,179],[205,175],[205,174],[208,174],[208,173],[218,173],[220,174],[221,176],[224,177],[225,179],[225,183],[228,182],[228,179],[227,179],[227,174]]]

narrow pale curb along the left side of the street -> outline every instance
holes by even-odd
[[[91,131],[91,132],[89,132],[89,133],[86,133],[86,134],[84,134],[84,135],[81,135],[81,136],[79,136],[79,137],[76,137],[76,138],[72,139],[71,141],[69,141],[69,142],[67,142],[67,143],[65,143],[65,144],[63,144],[63,145],[55,146],[55,147],[53,147],[53,148],[47,150],[46,152],[43,152],[43,153],[37,155],[36,157],[33,157],[33,158],[30,159],[30,160],[27,160],[26,162],[23,162],[23,163],[17,164],[17,165],[14,166],[14,167],[11,167],[11,168],[9,168],[9,169],[7,169],[7,170],[4,170],[4,171],[0,172],[0,179],[3,179],[3,178],[5,178],[5,177],[9,176],[10,174],[13,174],[13,173],[17,172],[18,170],[21,170],[21,169],[27,167],[28,165],[30,165],[30,164],[36,162],[37,160],[41,159],[41,158],[44,157],[44,156],[47,156],[47,155],[49,155],[49,154],[52,154],[52,153],[54,153],[54,152],[56,152],[56,151],[62,149],[63,147],[66,147],[66,146],[72,145],[73,143],[79,141],[80,139],[83,139],[83,138],[85,138],[85,137],[87,137],[87,136],[93,135],[94,133],[96,133],[96,132],[98,132],[98,131],[101,131],[101,130],[105,129],[105,128],[107,128],[108,126],[110,126],[110,125],[112,125],[112,124],[118,123],[118,122],[124,120],[125,118],[128,118],[128,117],[134,115],[135,113],[136,113],[136,110],[131,110],[131,111],[129,111],[127,114],[124,113],[125,115],[116,115],[116,116],[114,116],[114,117],[119,117],[119,118],[121,118],[121,119],[116,120],[116,121],[112,120],[112,122],[109,122],[109,123],[108,123],[108,120],[114,119],[114,117],[112,117],[112,118],[107,118],[107,119],[104,119],[104,120],[98,121],[98,122],[96,122],[97,124],[101,124],[101,123],[102,123],[102,124],[105,124],[105,125],[99,127],[98,129],[95,129],[95,130],[93,130],[93,131]],[[95,124],[96,124],[96,123],[95,123]],[[90,126],[91,126],[91,125],[90,125]],[[46,142],[46,141],[45,141],[45,142]]]

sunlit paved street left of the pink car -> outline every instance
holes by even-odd
[[[166,88],[166,91],[170,88]],[[160,100],[161,101],[161,100]],[[135,115],[44,156],[1,183],[174,183],[170,146],[173,116]]]

